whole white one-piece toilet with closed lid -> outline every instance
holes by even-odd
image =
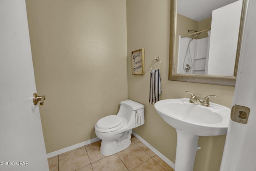
[[[95,133],[102,139],[100,153],[108,156],[126,149],[131,144],[132,129],[144,123],[144,105],[121,101],[116,115],[103,117],[95,124]]]

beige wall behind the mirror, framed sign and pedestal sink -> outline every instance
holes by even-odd
[[[162,61],[162,95],[160,99],[190,97],[192,91],[199,97],[214,94],[211,101],[230,107],[234,87],[176,82],[168,80],[170,0],[127,0],[127,56],[128,98],[145,105],[145,124],[134,131],[150,145],[175,163],[176,130],[156,113],[149,100],[150,64],[156,57]],[[131,73],[130,52],[145,49],[145,75]],[[194,171],[216,171],[220,168],[226,136],[200,137]]]

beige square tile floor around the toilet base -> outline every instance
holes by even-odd
[[[100,154],[100,143],[49,158],[50,171],[174,171],[133,135],[128,148],[110,156]]]

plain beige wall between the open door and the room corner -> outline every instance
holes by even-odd
[[[95,138],[127,99],[126,0],[26,0],[46,152]]]

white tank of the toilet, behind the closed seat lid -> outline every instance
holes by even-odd
[[[145,123],[144,105],[129,99],[121,101],[117,115],[126,118],[128,125],[132,125],[132,127],[137,127]]]

